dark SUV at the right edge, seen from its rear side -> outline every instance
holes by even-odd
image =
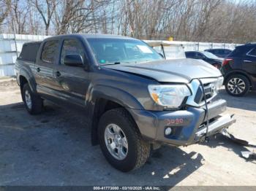
[[[234,96],[256,90],[256,43],[236,47],[222,63],[225,89]]]

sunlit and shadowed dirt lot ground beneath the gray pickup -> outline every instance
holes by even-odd
[[[256,93],[221,96],[236,114],[230,132],[256,144]],[[91,146],[82,114],[47,104],[31,116],[15,81],[0,81],[0,185],[256,185],[256,161],[241,157],[246,150],[252,148],[217,136],[208,144],[162,147],[143,168],[124,174]]]

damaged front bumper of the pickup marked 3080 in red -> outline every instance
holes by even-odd
[[[208,104],[208,136],[229,127],[236,120],[229,114],[222,115],[226,101],[218,100]],[[132,117],[146,139],[162,144],[186,146],[202,141],[206,134],[206,111],[203,107],[188,107],[187,110],[151,112],[129,109]],[[165,135],[166,128],[172,128],[170,135]]]

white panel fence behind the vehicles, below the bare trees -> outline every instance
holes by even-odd
[[[25,42],[39,41],[48,36],[23,35],[16,34],[18,54],[21,51],[22,45]],[[153,41],[147,41],[153,42]],[[164,42],[164,41],[163,41]],[[228,48],[233,50],[238,44],[222,44],[210,42],[168,42],[171,44],[165,47],[165,52],[168,58],[176,58],[181,52],[188,50],[206,50],[211,48]],[[14,63],[17,54],[15,48],[15,38],[13,34],[0,34],[0,77],[15,75]]]

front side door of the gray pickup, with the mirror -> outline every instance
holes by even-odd
[[[83,66],[67,66],[65,55],[79,55]],[[89,87],[89,62],[80,39],[65,38],[62,40],[59,63],[54,71],[56,93],[63,104],[85,106],[86,92]]]

